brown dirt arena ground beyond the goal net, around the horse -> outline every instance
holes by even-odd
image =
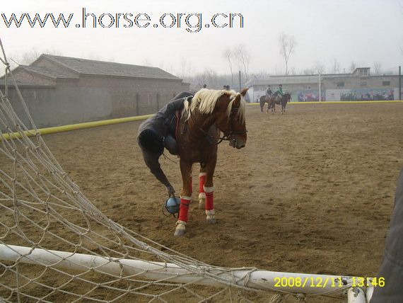
[[[187,235],[162,213],[165,188],[136,144],[140,122],[47,135],[49,149],[96,207],[129,229],[211,265],[374,276],[403,168],[403,103],[247,107],[245,149],[220,144],[218,223],[197,209]],[[161,159],[180,193],[178,160]],[[329,301],[329,302],[339,302]]]

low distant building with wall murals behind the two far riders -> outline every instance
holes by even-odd
[[[319,88],[320,81],[320,88]],[[371,76],[369,67],[357,68],[351,74],[315,74],[293,76],[269,76],[267,79],[252,79],[250,97],[256,102],[264,95],[267,86],[276,91],[279,84],[291,93],[292,101],[382,101],[402,100],[399,98],[399,76]],[[253,96],[253,97],[252,97]]]

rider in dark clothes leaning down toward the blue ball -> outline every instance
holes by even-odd
[[[171,196],[175,195],[175,190],[161,169],[158,159],[163,154],[164,147],[170,154],[178,154],[175,139],[175,113],[177,110],[182,110],[183,102],[189,96],[192,96],[192,93],[182,92],[175,96],[172,101],[158,110],[156,115],[141,123],[137,137],[147,167],[158,181],[165,185],[168,195]]]

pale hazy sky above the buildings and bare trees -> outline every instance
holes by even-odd
[[[92,28],[93,18],[87,18],[87,27],[82,28],[82,8],[94,13],[98,20],[105,13],[115,18],[115,23],[105,15],[105,28],[98,23]],[[276,1],[4,1],[0,12],[9,19],[11,13],[21,18],[21,13],[35,13],[45,17],[53,13],[57,18],[64,13],[65,18],[74,13],[69,28],[59,25],[54,28],[50,18],[44,28],[35,25],[30,28],[25,18],[20,28],[7,28],[3,16],[0,17],[0,37],[9,55],[23,54],[35,49],[37,52],[58,52],[69,57],[112,60],[129,64],[151,64],[168,72],[180,75],[182,72],[197,73],[204,69],[215,69],[218,74],[228,73],[228,63],[223,50],[245,44],[250,53],[250,72],[284,72],[284,59],[279,54],[279,35],[293,35],[296,40],[295,52],[290,57],[289,67],[297,73],[312,68],[317,62],[324,64],[329,72],[332,62],[337,59],[341,72],[346,71],[352,61],[358,67],[373,67],[380,62],[382,69],[396,69],[403,63],[403,0],[276,0]],[[146,13],[150,18],[147,28],[131,28],[123,15],[132,22],[138,13]],[[197,33],[189,33],[182,16],[182,28],[163,28],[159,18],[163,13],[202,13],[202,28]],[[235,18],[235,28],[214,28],[211,17],[216,13],[240,13]],[[144,15],[142,16],[144,19]],[[197,25],[199,19],[192,16],[189,23]],[[139,21],[144,25],[147,21]],[[172,22],[165,17],[165,25]],[[223,15],[216,18],[218,25],[228,23]],[[206,28],[205,24],[210,27]],[[80,24],[80,28],[76,27]],[[159,25],[154,28],[153,25]],[[77,25],[78,26],[78,25]],[[195,30],[192,28],[192,30]],[[233,62],[235,69],[237,63]]]

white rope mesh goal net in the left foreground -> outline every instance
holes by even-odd
[[[0,301],[282,302],[283,295],[250,288],[255,268],[235,277],[237,268],[189,258],[103,215],[54,159],[5,55],[1,62]],[[29,129],[8,100],[9,82]]]

